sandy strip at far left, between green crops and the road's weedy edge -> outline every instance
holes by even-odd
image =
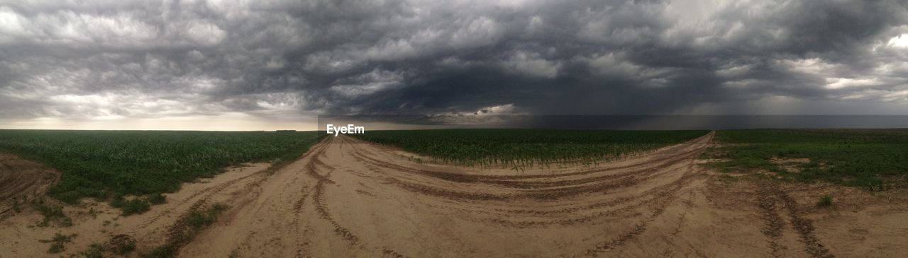
[[[10,160],[15,160],[15,162]],[[22,161],[19,160],[21,159],[0,159],[2,167],[14,167],[14,169],[5,170],[4,173],[25,173],[26,176],[16,177],[40,178],[35,175],[41,174],[35,174],[38,173],[35,171],[48,171],[35,163],[21,163]],[[9,164],[31,165],[30,167],[15,167]],[[218,177],[204,178],[196,183],[184,184],[177,193],[164,195],[167,198],[166,204],[153,205],[151,211],[142,215],[122,216],[119,209],[106,203],[95,202],[90,198],[83,199],[80,205],[65,205],[53,198],[41,197],[45,204],[62,205],[64,214],[73,221],[72,226],[54,224],[41,226],[40,223],[44,216],[35,210],[35,206],[31,202],[20,200],[19,212],[10,211],[9,215],[0,217],[0,257],[69,257],[87,250],[90,244],[107,243],[117,235],[128,235],[138,241],[138,250],[133,252],[133,255],[147,252],[149,249],[163,244],[169,237],[169,231],[174,225],[178,225],[180,219],[187,215],[193,207],[237,199],[237,196],[234,195],[248,192],[249,188],[254,187],[252,183],[267,177],[265,168],[269,166],[269,164],[262,163],[232,167]],[[31,185],[44,189],[47,184],[49,182],[44,185]],[[24,184],[4,183],[0,189],[6,192],[7,186],[21,185]],[[29,200],[33,198],[35,196],[29,196]],[[51,239],[54,234],[58,233],[77,235],[73,238],[73,243],[65,244],[66,249],[63,253],[47,253],[50,244],[41,243],[40,240]]]

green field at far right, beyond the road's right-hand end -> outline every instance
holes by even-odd
[[[786,179],[884,187],[908,180],[908,129],[741,129],[716,132],[706,158],[723,171],[765,169]],[[809,158],[788,171],[773,158]]]

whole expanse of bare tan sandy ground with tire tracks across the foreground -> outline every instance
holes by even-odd
[[[162,244],[193,207],[213,202],[231,208],[183,246],[180,256],[908,253],[908,191],[870,193],[720,174],[696,159],[711,139],[709,134],[596,166],[515,171],[416,163],[400,150],[341,136],[273,174],[265,172],[267,165],[257,165],[184,186],[144,215],[117,218],[107,208],[112,214],[83,215],[73,227],[35,228],[27,225],[38,217],[24,211],[0,222],[0,250],[12,250],[0,257],[47,255],[47,244],[36,239],[60,231],[79,232],[67,252],[117,234],[139,239],[142,252]],[[834,205],[815,207],[824,195],[833,196]],[[79,208],[86,209],[67,211]],[[101,225],[104,220],[118,226]]]

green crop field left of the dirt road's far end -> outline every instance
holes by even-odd
[[[60,181],[48,195],[64,202],[90,196],[141,209],[148,200],[160,202],[159,194],[224,167],[299,158],[321,137],[316,132],[0,129],[0,151],[59,170]],[[124,204],[126,195],[147,197]]]

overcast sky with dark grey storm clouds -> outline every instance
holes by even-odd
[[[908,115],[904,1],[0,0],[0,128]]]

